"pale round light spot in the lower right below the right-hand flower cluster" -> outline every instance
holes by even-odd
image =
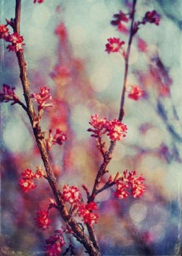
[[[140,222],[146,218],[148,209],[144,202],[136,202],[129,209],[129,216],[133,221]]]

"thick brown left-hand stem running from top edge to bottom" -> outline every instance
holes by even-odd
[[[18,34],[20,32],[19,31],[20,14],[21,14],[21,0],[16,0],[16,18],[14,20],[14,25],[12,25],[12,28],[14,29],[14,33],[18,33]],[[64,221],[72,228],[73,236],[75,236],[77,240],[85,246],[88,253],[93,256],[96,256],[96,255],[99,256],[100,253],[98,248],[94,247],[91,240],[88,238],[86,234],[83,233],[83,231],[79,227],[79,224],[75,221],[75,219],[73,219],[70,216],[70,214],[68,213],[68,210],[66,209],[63,195],[62,193],[60,193],[60,190],[55,180],[55,177],[53,175],[53,172],[51,172],[51,165],[49,163],[47,149],[44,144],[44,134],[42,133],[39,125],[34,126],[34,120],[37,120],[37,117],[34,112],[34,108],[32,104],[31,92],[29,88],[30,87],[29,80],[27,78],[27,63],[25,62],[23,51],[16,52],[16,56],[18,58],[20,79],[21,79],[21,84],[23,86],[23,94],[25,97],[25,102],[27,104],[27,114],[29,116],[29,120],[31,121],[34,136],[36,138],[36,143],[38,145],[38,149],[40,150],[42,161],[44,162],[45,172],[47,174],[47,180],[51,185],[53,194],[55,195],[57,206],[59,207],[59,212],[62,218],[64,219]]]

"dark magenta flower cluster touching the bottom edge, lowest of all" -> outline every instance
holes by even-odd
[[[62,246],[65,245],[64,237],[61,231],[56,231],[54,236],[49,237],[45,240],[45,253],[47,256],[59,256],[62,252]]]

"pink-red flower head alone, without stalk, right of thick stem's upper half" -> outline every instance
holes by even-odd
[[[51,100],[52,96],[50,93],[50,89],[47,89],[46,86],[40,88],[40,93],[38,94],[32,94],[32,98],[34,98],[38,102],[38,108],[39,110],[43,108],[47,108],[48,106],[53,106],[52,103],[46,103],[47,100]]]

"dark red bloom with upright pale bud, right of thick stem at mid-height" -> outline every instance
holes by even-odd
[[[67,137],[60,129],[56,129],[56,133],[53,136],[53,131],[52,129],[49,130],[49,136],[45,139],[45,146],[47,148],[47,151],[51,149],[51,146],[55,144],[62,145],[62,142],[67,140]]]

